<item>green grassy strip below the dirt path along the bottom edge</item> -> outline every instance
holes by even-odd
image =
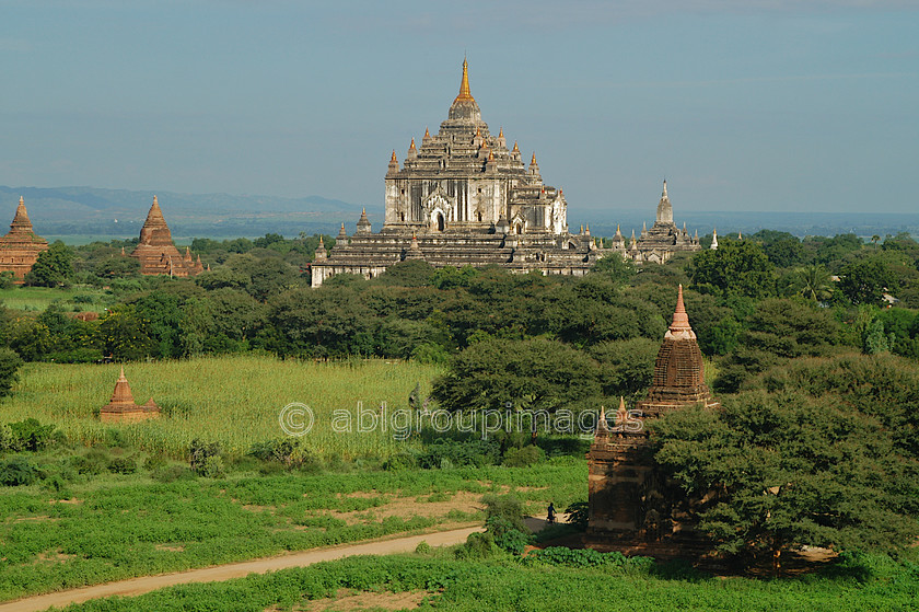
[[[352,557],[228,582],[185,585],[137,598],[100,600],[67,610],[261,612],[410,605],[452,612],[862,612],[916,610],[919,605],[919,575],[909,564],[884,557],[852,559],[833,568],[834,573],[782,580],[719,578],[678,569],[632,563],[575,568],[531,565],[509,557],[457,561],[449,551],[435,550]],[[395,598],[396,593],[403,597]],[[358,608],[354,601],[363,605]],[[391,601],[399,604],[383,608]]]

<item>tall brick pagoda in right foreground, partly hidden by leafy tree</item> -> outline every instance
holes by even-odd
[[[705,382],[702,353],[689,325],[680,286],[648,397],[631,413],[620,399],[614,427],[601,412],[588,452],[589,545],[655,554],[697,547],[700,538],[688,520],[688,510],[699,500],[687,498],[679,486],[659,473],[645,424],[699,404],[719,406]]]

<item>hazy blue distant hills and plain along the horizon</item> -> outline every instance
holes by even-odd
[[[177,194],[155,192],[173,235],[231,238],[258,236],[268,232],[287,236],[298,233],[338,233],[342,221],[354,230],[362,205],[322,196],[283,198],[230,194]],[[13,218],[19,197],[25,198],[28,216],[40,235],[50,236],[136,236],[147,218],[154,192],[100,189],[93,187],[7,187],[0,185],[0,227],[4,210]],[[368,206],[374,230],[380,228],[382,206]],[[654,222],[654,208],[648,210],[591,210],[572,207],[568,222],[572,232],[590,224],[593,235],[613,235],[617,223],[625,235],[641,232],[642,223]],[[835,235],[854,232],[874,234],[909,232],[919,235],[919,215],[854,212],[682,212],[674,211],[678,224],[689,232],[721,235],[745,234],[771,229],[804,235]]]

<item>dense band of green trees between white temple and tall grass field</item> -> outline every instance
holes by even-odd
[[[56,307],[8,311],[0,333],[23,359],[63,361],[258,349],[300,358],[457,356],[461,365],[463,351],[538,338],[552,347],[546,359],[582,351],[598,365],[601,388],[621,393],[640,390],[647,377],[604,374],[603,365],[645,371],[684,284],[702,351],[720,360],[723,392],[782,360],[840,347],[919,358],[919,243],[907,235],[865,244],[764,230],[664,266],[639,269],[609,256],[582,278],[405,262],[372,280],[340,275],[312,289],[318,241],[199,239],[193,245],[211,269],[194,279],[139,276],[120,255],[136,241],[55,243],[28,281],[105,287],[110,305],[97,321]],[[888,298],[899,302],[887,308]],[[482,343],[491,348],[476,346]]]

